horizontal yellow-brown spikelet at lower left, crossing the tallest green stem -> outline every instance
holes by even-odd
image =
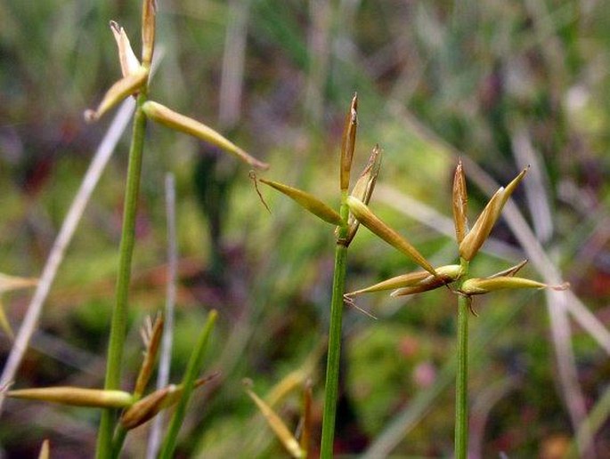
[[[125,391],[83,389],[81,387],[42,387],[7,391],[13,399],[41,400],[73,407],[124,408],[134,403],[134,397]]]

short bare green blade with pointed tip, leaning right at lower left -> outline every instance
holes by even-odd
[[[207,316],[206,325],[199,334],[197,345],[191,352],[191,358],[189,358],[189,363],[186,366],[186,372],[183,376],[183,394],[180,400],[178,400],[178,404],[175,407],[174,416],[172,416],[172,420],[167,428],[166,438],[163,441],[163,446],[161,447],[161,452],[159,453],[160,459],[171,459],[174,457],[178,432],[183,424],[184,415],[186,415],[186,406],[189,403],[189,399],[191,399],[191,393],[195,386],[195,380],[201,371],[203,358],[206,355],[209,335],[212,333],[217,316],[218,313],[216,310],[210,311],[209,315]]]

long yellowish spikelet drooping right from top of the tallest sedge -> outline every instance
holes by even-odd
[[[224,149],[224,151],[239,157],[242,161],[248,163],[248,165],[258,167],[259,169],[269,168],[269,165],[266,163],[259,161],[256,159],[256,157],[251,157],[232,141],[229,141],[211,127],[208,127],[203,123],[199,123],[199,121],[196,121],[193,118],[180,115],[174,110],[168,109],[160,103],[153,101],[144,102],[142,105],[142,110],[146,116],[153,121],[156,121],[161,125],[166,125],[167,127],[180,131],[181,133],[188,133],[193,137],[197,137],[202,141],[207,141],[212,145],[216,145],[216,147]]]

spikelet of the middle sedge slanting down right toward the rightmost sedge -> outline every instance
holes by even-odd
[[[416,262],[424,270],[429,273],[436,275],[435,269],[432,265],[424,258],[422,254],[419,254],[418,250],[411,246],[411,244],[400,236],[394,229],[391,229],[383,221],[370,211],[369,207],[362,203],[360,199],[350,196],[346,200],[349,210],[354,213],[354,216],[373,233],[382,238],[390,246],[394,246],[403,254],[407,255],[413,262]]]

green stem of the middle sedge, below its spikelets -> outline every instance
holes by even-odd
[[[345,201],[345,200],[344,200]],[[341,217],[347,221],[349,209],[341,205]],[[335,249],[335,272],[332,281],[330,303],[329,355],[326,363],[326,384],[324,393],[324,417],[322,419],[321,459],[329,459],[333,454],[335,440],[335,418],[337,415],[339,358],[341,356],[341,325],[343,320],[343,295],[346,291],[347,246],[343,242],[347,226],[340,227]]]

